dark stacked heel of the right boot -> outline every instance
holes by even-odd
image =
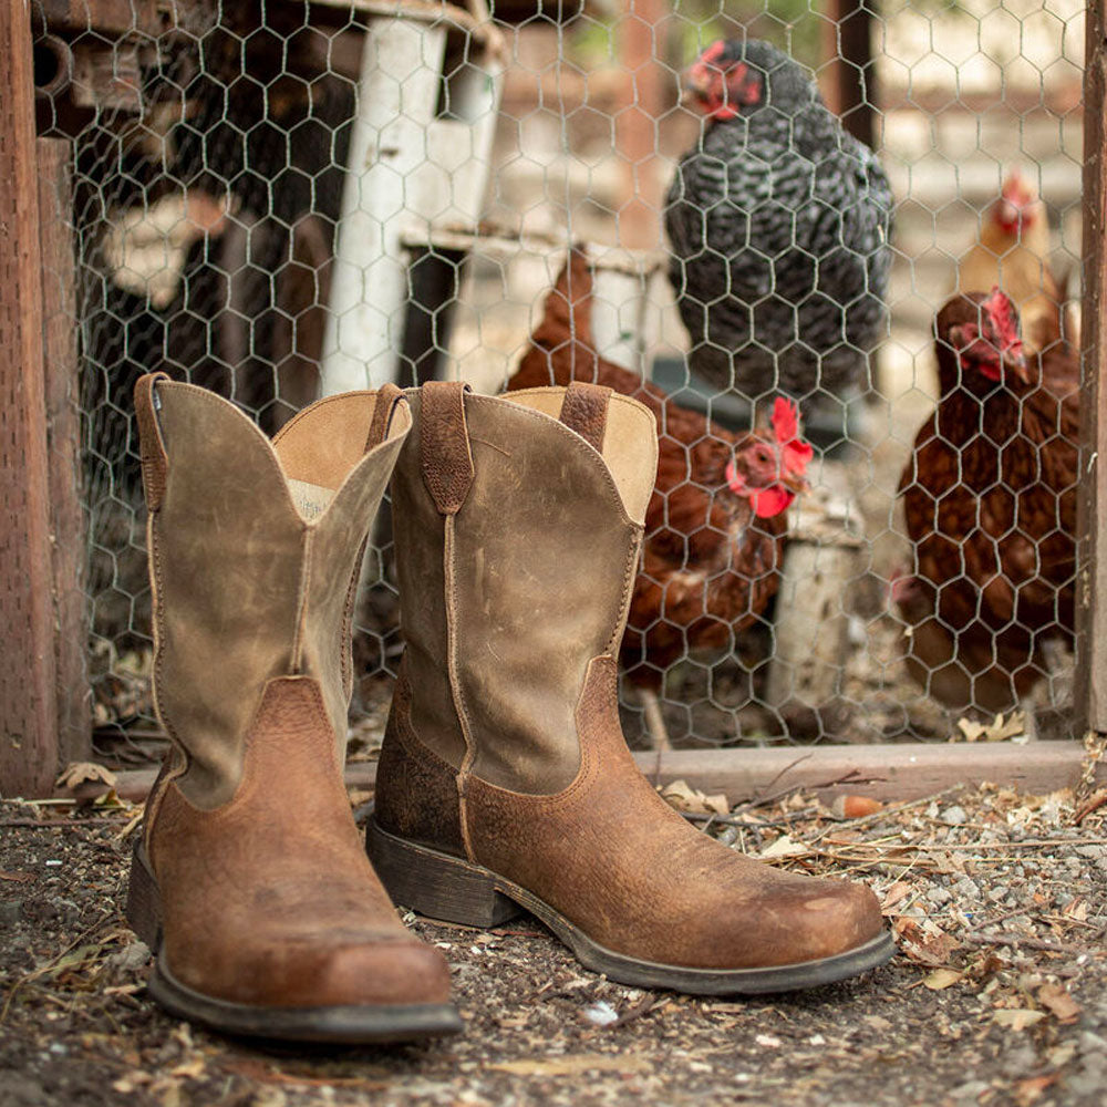
[[[466,927],[498,927],[521,909],[478,865],[404,841],[369,820],[365,850],[393,903]]]

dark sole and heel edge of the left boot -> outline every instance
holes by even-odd
[[[147,983],[151,996],[169,1014],[204,1023],[224,1034],[361,1045],[441,1037],[464,1028],[457,1008],[451,1003],[257,1007],[204,995],[182,984],[166,964],[161,899],[141,842],[135,846],[131,865],[126,917],[131,929],[157,958]]]

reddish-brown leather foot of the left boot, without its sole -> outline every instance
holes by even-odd
[[[445,1003],[437,950],[400,921],[350,817],[319,683],[270,681],[234,798],[193,806],[175,783],[149,856],[174,977],[257,1006]]]

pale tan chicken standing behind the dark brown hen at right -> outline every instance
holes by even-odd
[[[984,215],[980,239],[958,266],[953,292],[997,284],[1011,297],[1023,327],[1023,349],[1041,350],[1066,299],[1048,263],[1049,223],[1045,205],[1017,169],[1003,182],[1000,198]],[[1076,341],[1065,321],[1065,337]]]

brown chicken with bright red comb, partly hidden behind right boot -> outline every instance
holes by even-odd
[[[799,437],[792,401],[777,399],[770,426],[733,434],[600,358],[591,294],[588,257],[575,247],[507,387],[591,381],[637,397],[656,416],[658,480],[620,659],[660,748],[668,744],[658,704],[665,670],[690,651],[733,648],[776,592],[785,511],[807,487],[813,451]]]

